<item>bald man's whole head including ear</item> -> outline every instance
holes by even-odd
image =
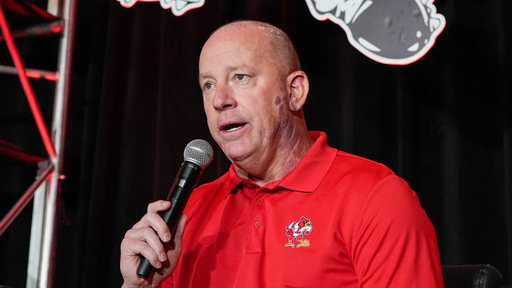
[[[239,166],[272,164],[306,131],[309,83],[279,28],[256,21],[219,28],[201,51],[199,82],[210,132]]]

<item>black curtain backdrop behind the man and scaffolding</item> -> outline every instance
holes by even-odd
[[[158,3],[124,9],[117,1],[79,1],[55,287],[119,286],[124,232],[166,196],[185,144],[213,143],[198,55],[215,28],[240,18],[289,33],[311,83],[309,129],[410,183],[436,228],[443,265],[489,263],[510,282],[512,7],[506,0],[435,4],[447,26],[432,50],[390,66],[350,46],[336,24],[316,21],[304,1],[206,0],[180,17]],[[18,41],[34,43],[21,48],[27,66],[51,68],[51,45]],[[9,63],[0,49],[1,63]],[[41,51],[46,56],[36,57]],[[32,83],[50,124],[52,87]],[[0,138],[44,155],[16,78],[0,76],[0,84]],[[214,149],[203,182],[228,168]],[[35,174],[4,162],[1,215]],[[30,219],[26,209],[0,236],[0,284],[24,286]]]

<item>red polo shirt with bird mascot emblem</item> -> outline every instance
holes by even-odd
[[[161,287],[444,287],[434,228],[407,183],[310,134],[279,181],[260,187],[231,166],[193,191]]]

